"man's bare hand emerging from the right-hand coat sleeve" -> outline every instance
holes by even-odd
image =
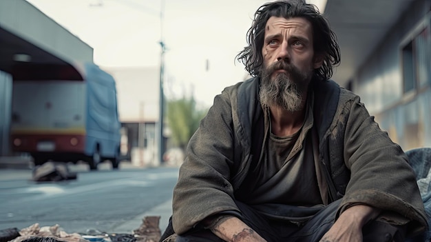
[[[367,205],[355,205],[340,214],[334,225],[319,242],[362,242],[362,227],[375,219],[380,210]]]

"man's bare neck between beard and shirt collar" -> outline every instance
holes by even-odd
[[[306,114],[306,101],[302,102],[299,111],[288,111],[280,107],[269,107],[271,113],[271,132],[277,137],[286,137],[298,132],[302,127]]]

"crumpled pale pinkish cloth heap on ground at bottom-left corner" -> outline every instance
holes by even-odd
[[[40,227],[39,223],[34,223],[30,225],[28,228],[23,228],[19,231],[21,236],[18,236],[15,239],[12,239],[9,242],[22,242],[25,239],[31,239],[34,237],[48,237],[52,239],[56,239],[58,241],[65,242],[89,242],[86,239],[83,239],[81,234],[72,233],[67,234],[60,225],[56,224],[54,226],[43,226]]]

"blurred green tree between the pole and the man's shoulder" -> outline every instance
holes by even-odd
[[[207,111],[207,109],[198,109],[193,97],[168,100],[167,121],[171,129],[172,143],[185,150]]]

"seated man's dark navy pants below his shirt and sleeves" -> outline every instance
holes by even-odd
[[[314,242],[319,241],[333,225],[339,203],[340,201],[331,203],[302,226],[287,221],[270,221],[248,205],[244,203],[237,204],[243,215],[242,221],[268,242]],[[365,225],[362,231],[364,242],[404,241],[404,231],[388,223],[372,221]],[[222,239],[215,236],[211,230],[196,229],[178,236],[176,241],[222,242]]]

